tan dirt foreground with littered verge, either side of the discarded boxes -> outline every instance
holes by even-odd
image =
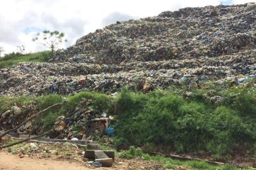
[[[95,169],[84,162],[83,152],[69,143],[24,142],[0,151],[0,170],[59,170],[67,168],[69,170]],[[112,167],[96,169],[163,170],[164,168],[154,161],[116,157]]]

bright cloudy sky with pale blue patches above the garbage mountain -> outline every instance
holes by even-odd
[[[0,47],[6,54],[47,50],[32,42],[35,33],[58,30],[66,34],[67,43],[73,45],[79,37],[96,29],[130,19],[156,16],[162,11],[175,11],[185,7],[219,4],[244,4],[256,0],[0,0]],[[3,54],[2,54],[3,55]]]

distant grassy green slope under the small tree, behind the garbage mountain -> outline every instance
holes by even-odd
[[[51,52],[43,51],[30,54],[11,53],[0,58],[0,69],[12,67],[19,62],[47,62],[50,59]]]

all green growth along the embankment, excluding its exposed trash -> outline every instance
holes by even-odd
[[[62,103],[35,121],[39,125],[44,124],[44,130],[49,130],[58,116],[74,114],[77,106],[87,107],[85,103],[90,99],[91,109],[115,116],[113,141],[117,146],[134,145],[149,151],[161,148],[166,152],[207,154],[215,160],[232,159],[235,150],[243,150],[248,156],[256,157],[255,88],[190,89],[192,94],[182,98],[186,91],[155,90],[143,94],[124,88],[114,99],[88,91],[73,96],[6,96],[0,98],[0,115],[14,103],[22,107],[33,101],[38,111]],[[223,102],[212,104],[210,98],[214,95],[222,96]],[[83,125],[74,127],[74,131],[79,131]]]

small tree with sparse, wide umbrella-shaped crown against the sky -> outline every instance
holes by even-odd
[[[33,42],[39,42],[42,45],[44,45],[47,48],[50,48],[52,51],[52,55],[54,54],[54,51],[59,48],[59,46],[67,42],[66,39],[64,39],[65,34],[59,31],[49,31],[44,30],[42,33],[37,33],[33,37]]]

